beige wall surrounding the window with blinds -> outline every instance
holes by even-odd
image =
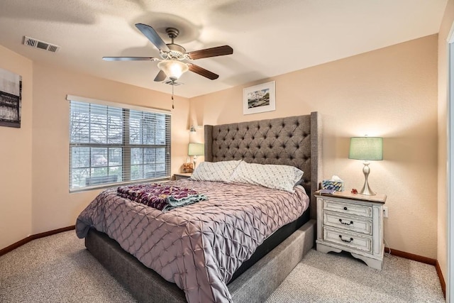
[[[99,192],[68,192],[70,109],[66,95],[160,109],[172,109],[172,101],[169,94],[48,65],[33,65],[33,79],[33,233],[40,233],[73,225]],[[189,100],[175,97],[172,172],[186,161],[188,112]]]

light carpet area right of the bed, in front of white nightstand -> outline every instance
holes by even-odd
[[[348,253],[311,250],[267,303],[445,302],[432,265],[387,255],[383,270]]]

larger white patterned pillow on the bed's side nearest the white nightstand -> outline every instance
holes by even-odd
[[[242,161],[233,172],[231,182],[256,184],[294,192],[293,187],[301,180],[303,173],[297,167],[289,165],[263,165]]]

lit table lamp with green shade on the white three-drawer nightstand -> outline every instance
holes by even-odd
[[[350,151],[348,152],[349,159],[364,160],[362,172],[364,173],[365,181],[360,194],[367,196],[375,195],[369,187],[367,177],[369,177],[369,162],[368,160],[383,160],[383,138],[380,137],[352,137],[350,138]]]

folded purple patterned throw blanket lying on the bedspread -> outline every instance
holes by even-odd
[[[206,195],[199,194],[194,189],[167,183],[122,186],[118,187],[117,192],[120,197],[143,203],[160,211],[170,211],[179,206],[208,199]]]

